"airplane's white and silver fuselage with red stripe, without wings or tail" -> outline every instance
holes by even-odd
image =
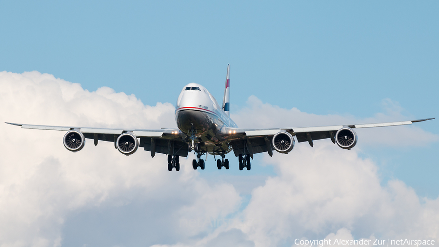
[[[175,120],[181,132],[189,136],[194,133],[201,142],[220,142],[223,128],[237,127],[207,89],[197,83],[181,90]]]

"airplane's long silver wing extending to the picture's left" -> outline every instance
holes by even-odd
[[[6,122],[5,122],[6,123]],[[117,147],[117,139],[120,135],[130,132],[137,138],[140,138],[139,147],[143,147],[146,151],[151,151],[151,156],[155,153],[170,154],[171,145],[173,150],[178,150],[177,155],[187,157],[190,147],[183,141],[184,134],[180,133],[178,128],[174,129],[121,129],[121,128],[92,128],[92,127],[75,127],[75,126],[50,126],[50,125],[34,125],[21,123],[8,123],[21,126],[26,129],[43,129],[43,130],[59,130],[72,131],[76,130],[82,133],[84,138],[93,139],[94,144],[98,141],[114,142]],[[85,141],[85,140],[84,140]],[[68,148],[67,148],[68,149]],[[79,151],[79,150],[78,150]]]

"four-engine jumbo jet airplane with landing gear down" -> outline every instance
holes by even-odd
[[[48,126],[20,123],[8,123],[28,129],[45,129],[67,131],[63,143],[67,150],[80,151],[85,139],[114,142],[114,147],[124,155],[131,155],[138,147],[151,153],[168,156],[168,170],[180,170],[180,156],[187,157],[194,151],[197,159],[192,167],[204,170],[207,153],[219,156],[216,159],[218,169],[229,169],[230,164],[225,155],[232,152],[238,157],[239,170],[251,169],[251,160],[257,153],[273,151],[287,154],[299,143],[308,142],[313,146],[315,140],[330,138],[334,144],[343,149],[351,149],[357,144],[357,133],[354,129],[397,126],[423,122],[435,118],[390,123],[345,124],[319,127],[243,129],[230,118],[230,64],[227,65],[227,77],[224,98],[220,105],[205,87],[198,83],[185,85],[175,106],[175,120],[178,128],[165,129],[132,129],[132,128],[93,128],[74,126]],[[5,122],[6,123],[6,122]]]

